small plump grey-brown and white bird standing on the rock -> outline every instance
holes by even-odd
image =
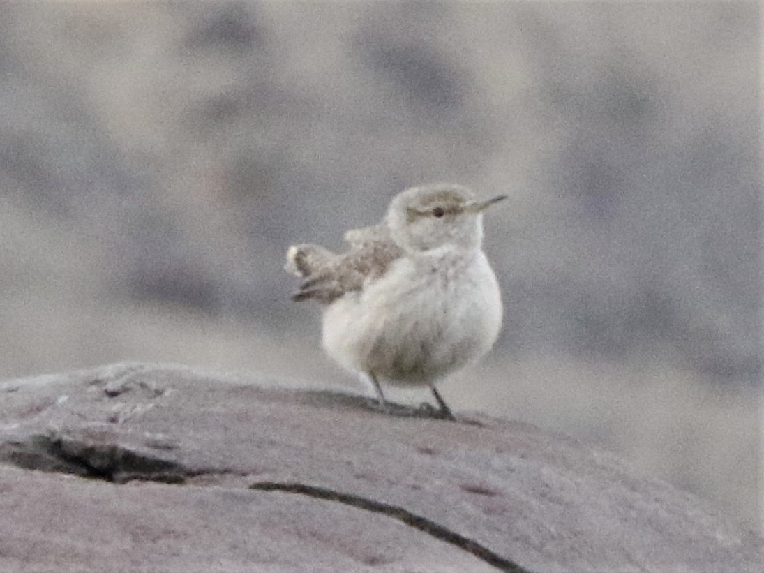
[[[285,269],[303,282],[292,299],[323,306],[323,347],[354,372],[390,413],[380,379],[429,386],[438,415],[454,419],[435,388],[494,345],[502,304],[482,250],[483,212],[506,199],[478,201],[460,185],[406,189],[379,224],[345,233],[350,250],[316,244],[286,252]]]

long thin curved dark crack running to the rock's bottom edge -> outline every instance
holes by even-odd
[[[302,494],[309,497],[315,497],[319,500],[336,501],[338,503],[345,503],[345,505],[351,507],[358,507],[361,510],[381,513],[406,523],[407,526],[411,526],[414,529],[419,529],[419,531],[427,533],[430,536],[435,537],[435,539],[451,543],[459,549],[471,553],[489,565],[493,565],[501,571],[507,571],[508,573],[531,573],[528,569],[502,555],[498,555],[473,539],[461,536],[439,523],[435,523],[426,517],[405,510],[403,507],[391,505],[390,503],[382,503],[356,494],[345,494],[341,491],[330,490],[326,487],[297,484],[294,482],[260,481],[251,484],[249,489],[258,491],[280,491],[287,494]]]

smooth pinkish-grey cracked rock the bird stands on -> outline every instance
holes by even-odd
[[[0,571],[760,571],[762,539],[533,426],[115,364],[0,383]]]

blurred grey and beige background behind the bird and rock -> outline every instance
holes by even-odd
[[[0,377],[361,391],[284,252],[448,180],[510,195],[503,333],[452,407],[760,526],[759,26],[756,2],[2,3]]]

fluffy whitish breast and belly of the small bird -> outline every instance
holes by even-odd
[[[351,371],[426,384],[477,360],[499,333],[499,286],[482,251],[402,257],[324,313],[324,348]]]

